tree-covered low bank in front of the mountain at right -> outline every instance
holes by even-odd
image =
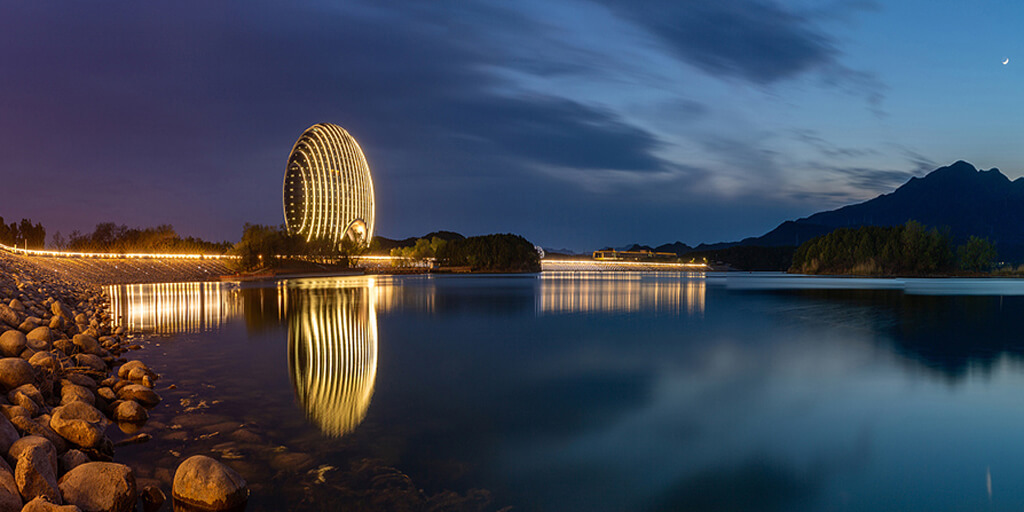
[[[954,251],[948,231],[910,220],[901,226],[840,228],[811,239],[793,256],[790,271],[861,275],[927,275],[985,271],[995,259],[986,239],[971,237]]]

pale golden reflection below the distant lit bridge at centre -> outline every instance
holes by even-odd
[[[702,273],[544,272],[538,313],[656,311],[703,314]]]

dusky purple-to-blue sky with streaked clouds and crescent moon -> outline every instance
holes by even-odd
[[[1020,2],[0,0],[0,215],[282,224],[359,142],[377,234],[690,245],[966,160],[1024,174]],[[1006,65],[1002,62],[1009,58]]]

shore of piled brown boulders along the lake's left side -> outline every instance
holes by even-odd
[[[198,455],[175,469],[170,489],[140,486],[114,462],[113,424],[137,430],[161,401],[159,376],[129,360],[132,345],[112,328],[110,305],[94,282],[0,254],[0,511],[236,510],[246,481]],[[130,272],[125,272],[131,276]]]

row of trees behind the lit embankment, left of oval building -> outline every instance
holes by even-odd
[[[214,243],[195,237],[181,238],[170,224],[157,227],[128,227],[114,222],[96,224],[89,233],[74,230],[63,241],[53,236],[56,249],[102,253],[224,254],[228,242]]]

